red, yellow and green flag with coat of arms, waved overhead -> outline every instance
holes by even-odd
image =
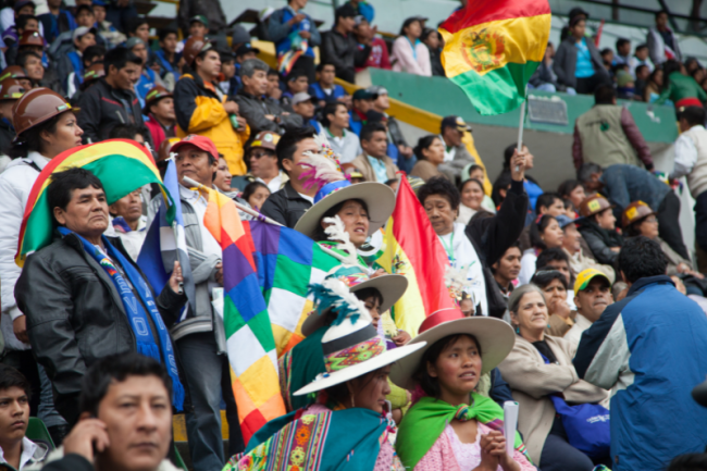
[[[469,0],[439,26],[447,77],[481,114],[500,114],[525,99],[525,84],[550,35],[547,0]]]

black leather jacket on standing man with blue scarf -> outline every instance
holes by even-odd
[[[109,239],[131,260],[120,238]],[[78,237],[71,234],[27,258],[15,285],[15,298],[27,315],[32,351],[52,382],[57,410],[73,423],[88,367],[108,355],[136,351],[135,334],[120,294]],[[185,296],[169,286],[157,297],[168,329],[185,301]],[[159,339],[150,326],[153,338]]]

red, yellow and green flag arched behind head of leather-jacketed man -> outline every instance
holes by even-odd
[[[172,200],[152,156],[134,140],[109,139],[65,150],[47,163],[32,187],[20,227],[15,256],[17,265],[23,267],[27,255],[51,244],[53,219],[46,190],[51,183],[52,173],[71,168],[83,168],[96,175],[103,185],[109,204],[150,183],[158,184],[164,199]],[[129,175],[129,178],[125,175]],[[175,204],[172,203],[165,218],[172,223],[174,215]]]

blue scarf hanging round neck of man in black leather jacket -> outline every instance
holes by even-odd
[[[75,232],[69,231],[66,227],[59,227],[59,232],[63,236],[69,234],[76,235],[84,245],[84,250],[94,257],[94,260],[96,260],[98,264],[106,270],[108,276],[111,277],[115,288],[121,294],[123,307],[125,308],[125,312],[131,321],[131,327],[133,327],[133,333],[137,340],[137,352],[145,355],[146,357],[154,358],[160,362],[162,362],[162,357],[164,357],[164,363],[166,363],[168,372],[172,379],[172,405],[177,411],[181,411],[184,405],[184,386],[182,386],[182,383],[179,382],[179,373],[176,369],[176,359],[174,358],[174,349],[172,348],[170,333],[164,326],[164,322],[162,322],[160,312],[157,310],[157,303],[152,298],[152,289],[145,282],[142,275],[140,275],[137,269],[133,267],[125,257],[123,257],[123,253],[121,253],[120,250],[116,250],[115,247],[108,241],[106,236],[101,236],[103,245],[106,246],[106,251],[109,257],[116,260],[123,270],[125,270],[125,274],[135,287],[135,290],[138,293],[140,301],[135,298],[135,293],[129,288],[128,284],[123,278],[123,275],[121,275],[121,272],[115,268],[111,259],[101,253],[92,244]],[[145,306],[148,307],[150,317],[152,318],[152,323],[158,330],[160,336],[159,346],[154,343],[154,338],[152,337],[152,330],[149,327],[150,324],[147,320]],[[160,348],[162,349],[162,357],[160,356]]]

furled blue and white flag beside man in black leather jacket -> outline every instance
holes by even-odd
[[[187,308],[179,317],[179,321],[183,321],[188,310],[196,312],[196,287],[191,277],[191,264],[189,263],[187,239],[184,234],[182,201],[179,200],[179,182],[173,159],[169,159],[164,174],[164,187],[171,198],[162,200],[158,213],[150,227],[148,227],[140,255],[137,258],[137,265],[152,285],[152,289],[156,293],[161,293],[170,281],[174,261],[179,261],[182,276],[184,277],[184,293],[188,300]],[[172,204],[174,206],[174,220],[172,223],[168,220],[170,201],[174,202]]]

